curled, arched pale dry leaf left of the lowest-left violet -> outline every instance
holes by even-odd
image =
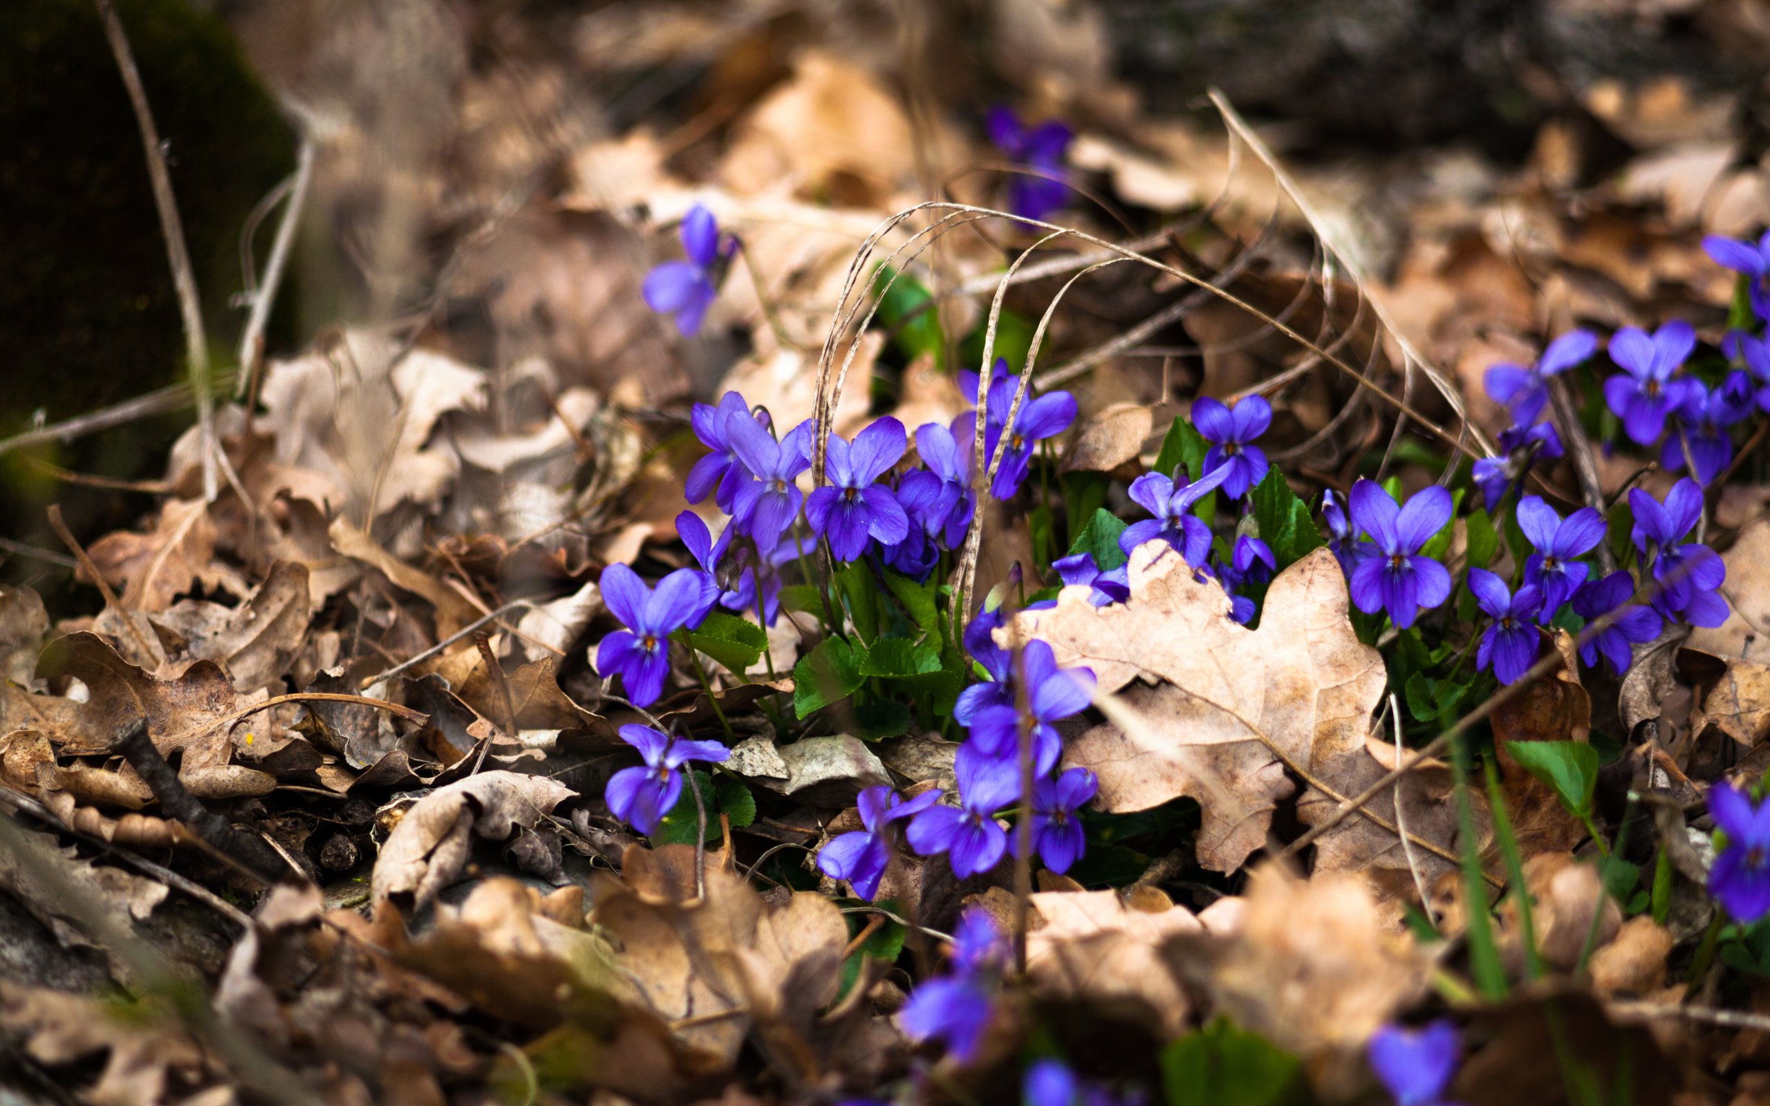
[[[405,810],[381,846],[373,901],[409,894],[421,908],[466,867],[474,835],[506,841],[519,826],[533,830],[573,795],[558,780],[519,772],[481,772],[437,787]]]

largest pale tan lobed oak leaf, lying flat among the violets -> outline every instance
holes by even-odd
[[[1129,579],[1126,603],[1094,607],[1087,588],[1066,588],[1055,607],[1020,616],[1021,635],[1050,642],[1058,664],[1094,669],[1103,710],[1119,722],[1089,729],[1066,752],[1099,777],[1104,810],[1191,796],[1204,810],[1198,862],[1232,872],[1266,846],[1273,807],[1292,791],[1287,766],[1338,784],[1338,798],[1313,786],[1303,795],[1297,812],[1310,825],[1379,775],[1365,740],[1388,678],[1352,632],[1331,552],[1273,580],[1258,630],[1235,625],[1223,589],[1195,580],[1165,541],[1133,550]],[[1347,818],[1320,848],[1368,835],[1374,818]],[[1365,862],[1405,867],[1393,823],[1384,833],[1375,855],[1359,846]]]

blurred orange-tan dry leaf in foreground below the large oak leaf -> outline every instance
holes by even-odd
[[[1432,968],[1347,874],[1253,872],[1234,933],[1168,941],[1168,963],[1243,1028],[1296,1053],[1345,1094],[1370,1035],[1425,995]]]

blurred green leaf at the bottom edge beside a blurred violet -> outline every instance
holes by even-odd
[[[1303,1064],[1266,1037],[1218,1018],[1161,1049],[1170,1106],[1303,1106]]]

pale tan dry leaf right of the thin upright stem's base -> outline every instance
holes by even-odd
[[[1133,902],[1113,890],[1037,892],[1044,926],[1027,934],[1027,973],[1044,995],[1120,1003],[1140,1002],[1166,1035],[1186,1032],[1191,1002],[1161,959],[1161,943],[1204,933],[1198,918],[1161,892]]]

